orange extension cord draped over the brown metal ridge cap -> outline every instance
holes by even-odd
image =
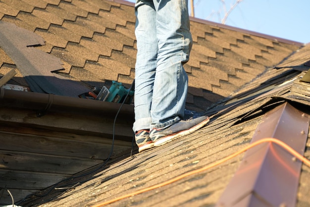
[[[232,155],[229,155],[229,156],[226,156],[216,162],[213,162],[211,164],[208,164],[207,166],[205,167],[202,167],[202,168],[199,168],[199,169],[196,169],[196,170],[193,170],[193,171],[190,171],[190,172],[187,172],[187,173],[184,173],[182,175],[179,175],[175,178],[172,178],[170,180],[167,180],[165,182],[162,182],[162,183],[159,183],[159,184],[156,184],[154,186],[151,186],[151,187],[148,187],[148,188],[145,188],[145,189],[141,189],[139,191],[135,191],[133,193],[130,193],[130,194],[127,194],[127,195],[124,195],[124,196],[120,196],[118,198],[115,198],[115,199],[112,199],[112,200],[109,200],[109,201],[106,201],[106,202],[102,202],[102,203],[99,203],[99,204],[96,204],[92,207],[102,207],[102,206],[105,206],[107,204],[111,204],[111,203],[114,203],[116,201],[119,201],[119,200],[122,200],[122,199],[125,199],[125,198],[129,198],[131,196],[134,196],[134,195],[138,195],[138,194],[141,194],[141,193],[144,193],[144,192],[147,192],[147,191],[151,191],[151,190],[154,190],[156,188],[159,188],[159,187],[162,187],[162,186],[165,186],[165,185],[169,185],[173,182],[176,182],[178,180],[181,180],[187,176],[190,176],[190,175],[194,175],[194,174],[197,174],[197,173],[200,173],[202,171],[205,171],[207,169],[210,169],[212,167],[215,167],[216,165],[219,165],[237,155],[240,155],[241,153],[244,153],[245,151],[261,144],[261,143],[265,143],[265,142],[270,142],[270,143],[276,143],[278,144],[279,146],[281,146],[282,148],[284,148],[286,151],[288,151],[290,154],[294,155],[296,158],[298,158],[299,160],[301,160],[302,162],[304,162],[306,165],[308,165],[310,167],[310,160],[307,159],[306,157],[304,157],[303,155],[300,155],[298,152],[296,152],[295,150],[293,150],[290,146],[288,146],[287,144],[285,144],[284,142],[278,140],[278,139],[275,139],[275,138],[264,138],[264,139],[261,139],[261,140],[258,140],[257,142],[255,143],[252,143],[251,145],[243,148],[242,150],[232,154]]]

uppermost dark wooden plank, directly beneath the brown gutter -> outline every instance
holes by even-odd
[[[38,109],[39,110],[39,109]],[[105,136],[112,138],[113,119],[92,115],[47,112],[37,117],[36,111],[0,107],[0,122],[18,123],[19,126],[31,126],[38,129],[71,132],[75,134]],[[115,137],[131,142],[133,135],[132,123],[126,119],[117,119]]]

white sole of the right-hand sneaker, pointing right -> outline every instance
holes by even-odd
[[[202,127],[206,126],[209,121],[210,121],[210,119],[207,118],[204,121],[200,122],[199,124],[193,126],[190,129],[186,129],[186,130],[177,132],[175,134],[171,134],[171,135],[167,135],[165,137],[162,137],[162,138],[160,138],[154,142],[154,147],[161,146],[161,145],[166,144],[167,142],[175,140],[179,137],[183,137],[185,135],[191,134],[191,133],[197,131],[198,129],[201,129]]]

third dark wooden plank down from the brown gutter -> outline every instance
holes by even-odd
[[[102,162],[63,156],[40,155],[0,150],[0,168],[29,172],[75,174]]]

